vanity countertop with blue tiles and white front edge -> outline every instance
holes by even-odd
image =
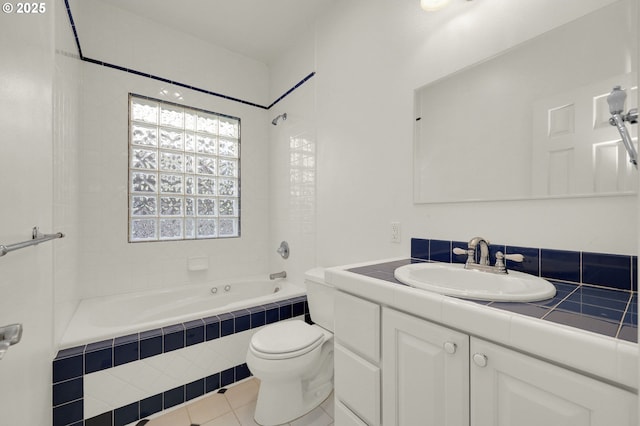
[[[637,293],[550,280],[541,302],[485,302],[402,284],[394,270],[415,259],[326,270],[338,289],[580,372],[638,388]]]

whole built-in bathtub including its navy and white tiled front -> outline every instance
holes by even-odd
[[[53,360],[54,424],[136,424],[248,378],[251,337],[306,291],[242,279],[82,300]]]

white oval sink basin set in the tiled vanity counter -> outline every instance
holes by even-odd
[[[411,287],[465,299],[535,302],[556,294],[554,285],[540,277],[464,269],[459,263],[412,263],[397,268],[394,275]]]

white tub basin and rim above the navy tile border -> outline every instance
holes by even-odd
[[[60,342],[67,349],[305,295],[287,280],[245,279],[80,301]]]

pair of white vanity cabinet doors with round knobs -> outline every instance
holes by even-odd
[[[632,392],[387,307],[382,348],[384,426],[636,426]]]

